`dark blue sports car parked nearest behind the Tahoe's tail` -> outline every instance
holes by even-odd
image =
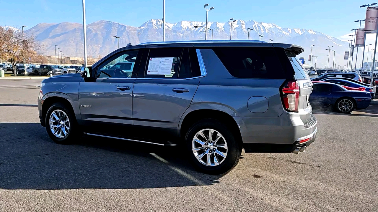
[[[333,106],[338,112],[350,113],[367,108],[371,96],[365,91],[349,91],[338,84],[324,82],[313,84],[309,100],[313,106]]]

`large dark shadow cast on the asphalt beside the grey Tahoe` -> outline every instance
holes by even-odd
[[[2,189],[136,189],[211,185],[184,147],[84,137],[60,145],[38,123],[0,123]]]

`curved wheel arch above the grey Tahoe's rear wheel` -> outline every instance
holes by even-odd
[[[235,135],[236,140],[241,144],[243,144],[242,135],[240,133],[240,129],[234,118],[230,114],[224,111],[216,110],[216,109],[197,109],[188,112],[180,122],[178,135],[179,137],[183,138],[185,137],[187,131],[189,128],[196,123],[197,121],[206,119],[206,118],[212,118],[218,121],[221,121],[226,126],[231,129],[232,133]]]

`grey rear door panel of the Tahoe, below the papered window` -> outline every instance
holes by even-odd
[[[156,134],[149,134],[150,137],[161,137],[164,133],[168,133],[169,138],[177,136],[180,118],[189,108],[199,82],[199,78],[183,80],[137,78],[133,91],[134,126],[157,130],[154,131]],[[141,137],[146,136],[146,133],[139,133]]]

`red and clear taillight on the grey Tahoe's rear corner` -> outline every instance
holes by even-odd
[[[298,112],[299,86],[298,81],[288,81],[282,88],[283,106],[291,112]]]

